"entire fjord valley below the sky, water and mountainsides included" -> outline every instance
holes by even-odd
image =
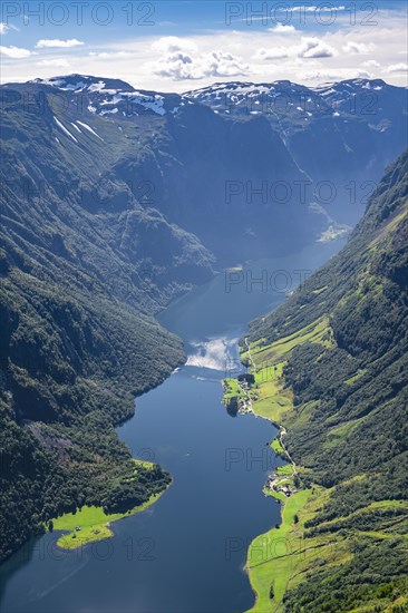
[[[399,613],[406,89],[0,98],[2,610]]]

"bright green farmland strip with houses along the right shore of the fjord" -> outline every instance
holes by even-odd
[[[330,532],[308,532],[305,525],[328,502],[331,489],[315,483],[302,485],[299,477],[305,476],[308,469],[293,461],[283,442],[286,428],[297,420],[293,393],[284,387],[283,369],[298,344],[327,343],[326,330],[327,322],[321,318],[313,324],[271,343],[251,346],[256,396],[253,402],[254,415],[278,426],[279,432],[271,447],[275,453],[283,451],[288,464],[284,465],[286,474],[278,467],[275,475],[269,479],[269,489],[264,488],[266,495],[280,500],[281,520],[258,535],[247,548],[245,571],[254,594],[254,604],[246,613],[282,613],[285,594],[307,581],[310,566],[317,560],[322,565],[338,565],[348,561],[351,555],[344,537],[338,537],[333,552]],[[244,359],[245,354],[247,359],[247,351],[243,347],[241,358]]]

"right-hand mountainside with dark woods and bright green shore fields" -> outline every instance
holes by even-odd
[[[242,342],[254,411],[288,430],[274,448],[295,466],[281,528],[250,549],[255,611],[406,610],[407,247],[406,152],[347,246]]]

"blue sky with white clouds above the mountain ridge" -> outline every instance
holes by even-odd
[[[82,72],[167,91],[279,78],[407,85],[405,0],[3,0],[0,21],[3,82]]]

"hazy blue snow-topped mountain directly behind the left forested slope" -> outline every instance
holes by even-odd
[[[104,159],[98,184],[120,182],[144,208],[197,235],[222,264],[292,250],[286,231],[298,249],[327,226],[311,200],[290,193],[305,176],[263,117],[220,117],[182,96],[80,75],[8,87],[10,108],[17,98],[48,115],[56,150],[81,156],[81,164],[84,154]],[[86,195],[88,211],[100,214],[100,202]],[[117,207],[118,198],[107,200]]]

